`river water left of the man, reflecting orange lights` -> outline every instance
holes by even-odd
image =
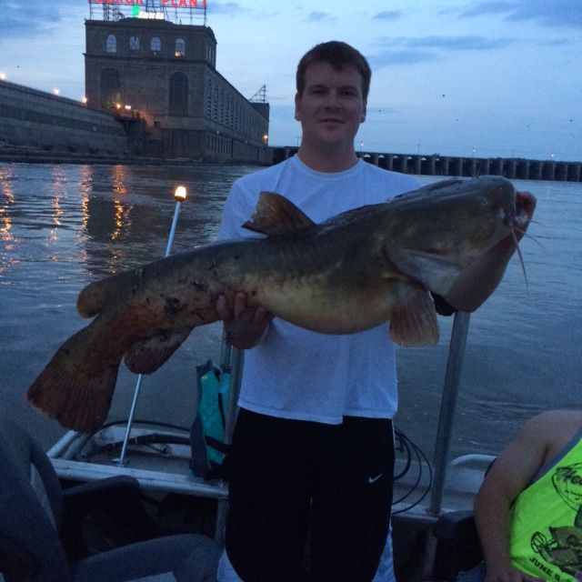
[[[164,255],[176,186],[188,190],[174,250],[216,236],[226,194],[256,167],[68,166],[0,164],[0,397],[45,442],[60,433],[35,414],[24,393],[55,349],[86,322],[76,314],[79,290],[90,281]],[[193,335],[194,336],[194,335]],[[217,359],[220,326],[206,326],[145,382],[143,414],[187,426],[194,403],[195,366]],[[147,385],[166,390],[159,398]],[[134,376],[122,371],[114,410],[126,416]],[[179,395],[179,396],[178,396]],[[176,399],[184,406],[176,414]],[[188,406],[187,403],[190,403]]]

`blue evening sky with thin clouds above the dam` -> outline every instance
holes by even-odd
[[[0,0],[0,75],[81,100],[89,17]],[[247,98],[266,85],[271,146],[298,145],[296,64],[336,39],[373,71],[356,150],[582,161],[582,0],[207,0],[206,25],[218,72]]]

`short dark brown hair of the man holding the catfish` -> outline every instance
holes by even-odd
[[[327,43],[316,45],[307,51],[299,61],[299,65],[297,65],[296,88],[298,95],[303,95],[303,91],[306,88],[306,69],[314,63],[327,63],[336,71],[343,71],[349,65],[355,66],[357,72],[362,75],[362,95],[364,96],[364,101],[367,100],[372,71],[366,61],[366,57],[353,46],[341,41],[331,40]]]

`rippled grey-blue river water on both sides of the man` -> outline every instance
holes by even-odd
[[[75,300],[86,283],[166,250],[179,184],[188,188],[174,251],[216,236],[226,193],[253,166],[0,164],[0,398],[50,445],[64,430],[24,401],[27,386],[66,337],[86,324]],[[423,182],[437,180],[421,176]],[[471,316],[451,454],[497,453],[538,411],[579,407],[582,396],[582,185],[516,181],[538,198],[537,224],[496,293]],[[436,347],[399,350],[396,424],[432,455],[452,320]],[[146,376],[137,416],[188,426],[195,366],[218,359],[220,325],[198,328]],[[111,418],[125,418],[135,376],[125,369]]]

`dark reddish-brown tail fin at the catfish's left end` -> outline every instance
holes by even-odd
[[[57,352],[28,388],[26,400],[66,428],[93,433],[109,412],[118,369],[119,362],[104,366],[100,376],[77,375]]]

